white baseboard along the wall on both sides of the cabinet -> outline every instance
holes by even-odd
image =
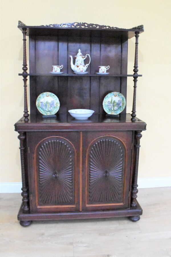
[[[138,188],[171,186],[171,177],[138,178]],[[0,183],[0,193],[21,193],[22,183]]]

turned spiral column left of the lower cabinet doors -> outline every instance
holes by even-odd
[[[28,213],[29,212],[29,204],[28,204],[28,188],[26,184],[26,174],[25,174],[25,162],[24,162],[24,150],[25,150],[25,132],[20,132],[18,139],[20,140],[20,152],[21,152],[21,175],[22,175],[22,193],[21,196],[23,197],[23,212]]]

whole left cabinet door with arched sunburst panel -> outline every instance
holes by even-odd
[[[28,133],[32,212],[78,210],[79,140],[78,132]]]

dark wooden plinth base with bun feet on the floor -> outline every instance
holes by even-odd
[[[18,220],[22,226],[29,226],[32,220],[68,220],[68,219],[88,219],[88,218],[112,218],[129,217],[132,221],[140,219],[143,210],[137,202],[136,208],[120,210],[105,210],[91,212],[51,212],[51,213],[23,213],[22,205],[18,213]]]

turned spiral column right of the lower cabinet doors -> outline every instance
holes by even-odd
[[[139,160],[139,148],[140,148],[140,139],[142,137],[142,130],[137,130],[135,132],[135,163],[134,163],[134,173],[133,173],[133,182],[132,182],[132,191],[131,191],[131,207],[137,207],[137,177],[138,177],[138,160]]]

